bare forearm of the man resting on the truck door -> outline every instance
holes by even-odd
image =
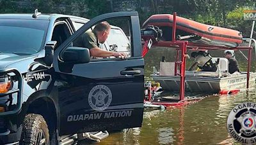
[[[91,48],[90,49],[90,55],[93,57],[121,57],[122,59],[127,58],[127,55],[125,53],[122,52],[109,52],[106,50],[102,50],[98,47],[95,48]]]

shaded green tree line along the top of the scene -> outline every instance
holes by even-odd
[[[252,20],[244,20],[243,10],[255,0],[0,0],[0,13],[62,13],[93,18],[111,11],[136,10],[141,24],[150,15],[173,13],[204,24],[228,27],[248,37]],[[255,8],[256,9],[256,8]]]

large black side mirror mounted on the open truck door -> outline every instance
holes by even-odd
[[[88,48],[68,47],[62,55],[64,62],[71,64],[83,64],[90,62],[90,51]]]

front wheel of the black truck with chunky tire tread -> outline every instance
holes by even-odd
[[[47,123],[40,114],[26,114],[23,126],[20,143],[27,144],[50,144],[49,130]]]

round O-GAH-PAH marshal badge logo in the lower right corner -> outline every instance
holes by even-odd
[[[244,102],[234,107],[227,120],[228,133],[242,144],[256,144],[256,104]]]

